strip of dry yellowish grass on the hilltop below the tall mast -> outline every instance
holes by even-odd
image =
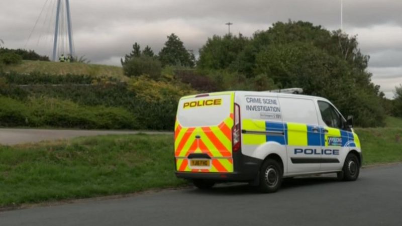
[[[4,70],[15,71],[19,73],[42,72],[57,75],[87,74],[93,76],[125,78],[122,67],[84,63],[62,63],[24,60],[22,64],[5,66]]]

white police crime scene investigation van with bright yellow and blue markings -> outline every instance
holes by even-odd
[[[337,173],[356,180],[362,163],[353,118],[327,99],[262,91],[184,96],[174,128],[175,174],[201,189],[249,182],[275,192],[282,179]]]

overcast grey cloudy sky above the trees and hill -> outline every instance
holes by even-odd
[[[25,47],[51,56],[55,3],[56,0],[2,0],[0,39],[6,47]],[[178,35],[187,49],[197,52],[208,37],[227,33],[225,23],[229,21],[233,23],[232,33],[246,36],[288,19],[336,30],[340,28],[340,3],[341,0],[70,1],[76,55],[85,55],[92,63],[112,65],[120,65],[120,58],[131,51],[134,42],[141,47],[149,45],[158,53],[171,33]],[[343,0],[343,5],[344,32],[357,35],[362,53],[370,55],[368,70],[373,73],[373,82],[392,97],[394,87],[402,83],[402,1]]]

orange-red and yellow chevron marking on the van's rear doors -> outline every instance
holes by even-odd
[[[233,94],[231,114],[218,126],[182,127],[176,120],[174,127],[174,156],[176,170],[186,172],[233,172],[232,127]],[[199,136],[199,139],[195,137]],[[188,155],[205,153],[211,157],[209,169],[191,169]]]

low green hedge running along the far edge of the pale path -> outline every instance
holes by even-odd
[[[126,109],[82,106],[68,100],[30,98],[27,102],[0,97],[0,126],[79,129],[138,129],[137,118]]]

